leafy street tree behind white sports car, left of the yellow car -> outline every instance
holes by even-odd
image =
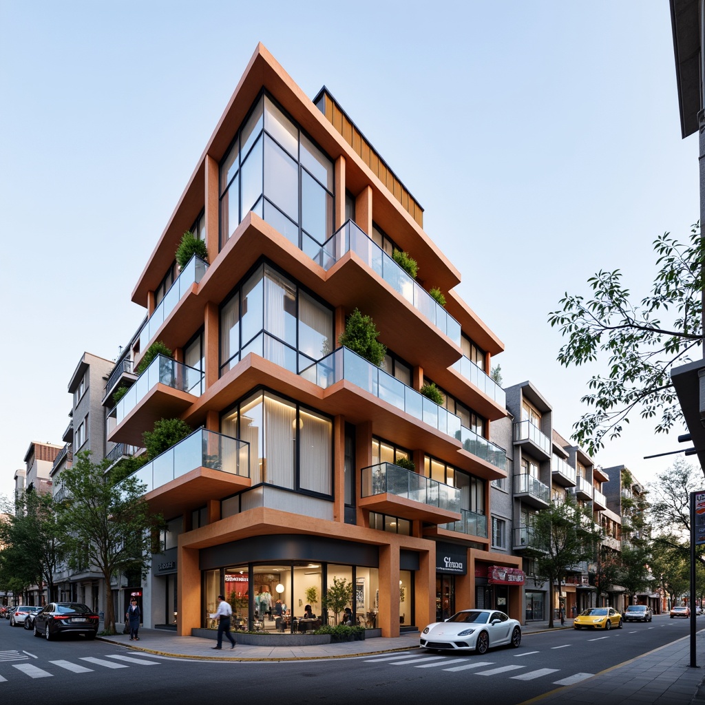
[[[572,495],[551,504],[534,515],[528,532],[529,550],[535,558],[537,579],[548,582],[549,599],[553,586],[579,570],[584,560],[594,560],[600,532],[592,511],[578,505]],[[553,627],[553,608],[548,609],[548,627]]]

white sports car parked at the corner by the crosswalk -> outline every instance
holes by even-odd
[[[474,649],[484,654],[491,646],[522,643],[522,628],[515,619],[496,610],[462,610],[445,622],[429,624],[421,632],[426,649]]]

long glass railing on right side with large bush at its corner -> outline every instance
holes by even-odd
[[[460,418],[348,348],[338,348],[300,373],[324,389],[343,379],[462,442],[468,453],[504,470],[506,453],[460,424]]]

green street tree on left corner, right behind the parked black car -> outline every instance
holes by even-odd
[[[94,463],[78,453],[73,467],[59,476],[63,501],[59,517],[67,528],[66,553],[73,570],[94,568],[105,583],[105,631],[115,633],[111,581],[123,573],[145,577],[161,515],[150,513],[145,485],[135,477],[113,477],[111,461]]]

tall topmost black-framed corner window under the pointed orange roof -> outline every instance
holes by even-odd
[[[333,162],[264,95],[221,162],[221,247],[250,210],[302,250],[333,234]]]

